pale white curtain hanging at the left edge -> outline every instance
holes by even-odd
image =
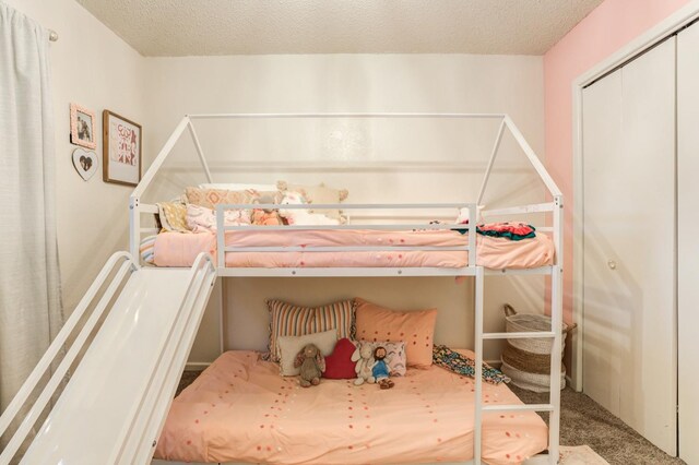
[[[0,1],[0,412],[63,322],[48,47]]]

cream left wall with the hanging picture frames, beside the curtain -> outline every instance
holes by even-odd
[[[74,0],[5,0],[60,38],[50,44],[58,158],[58,250],[63,306],[69,314],[107,258],[128,243],[127,187],[102,181],[102,110],[143,121],[145,59]],[[69,104],[97,117],[99,169],[88,181],[73,168]],[[144,132],[147,140],[147,130]]]

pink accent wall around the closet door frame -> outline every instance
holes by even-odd
[[[564,319],[572,320],[572,82],[688,0],[605,0],[544,56],[546,164],[564,193]]]

